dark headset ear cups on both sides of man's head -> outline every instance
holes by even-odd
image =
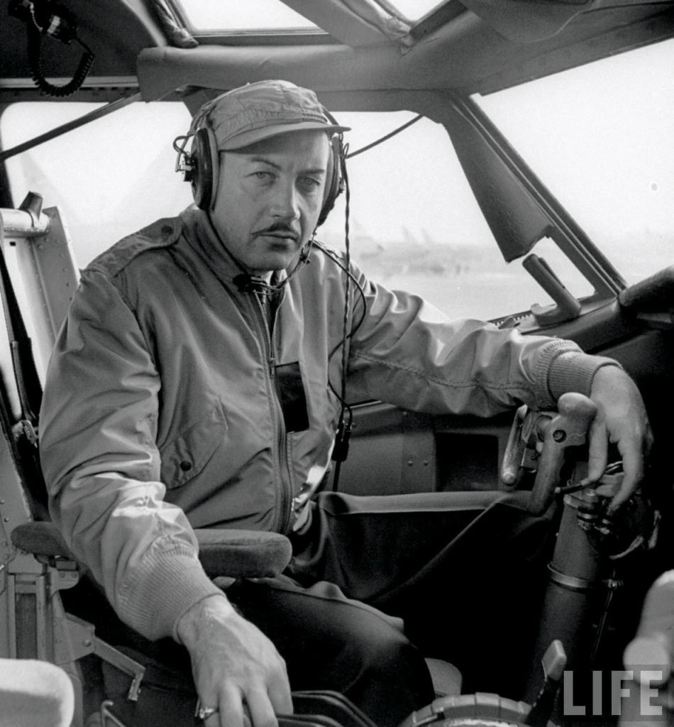
[[[330,123],[337,124],[334,117],[323,108],[323,113]],[[192,146],[187,152],[185,147],[192,137]],[[317,227],[325,222],[330,210],[335,206],[338,196],[344,191],[344,164],[346,151],[342,134],[334,134],[330,141],[330,161],[328,176],[325,183],[323,204],[318,216]],[[184,180],[192,185],[192,195],[199,209],[213,210],[219,182],[219,150],[213,129],[200,126],[194,132],[179,136],[174,140],[173,147],[178,153],[176,172],[183,172]]]

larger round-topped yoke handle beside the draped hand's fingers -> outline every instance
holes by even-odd
[[[533,515],[541,515],[550,505],[555,487],[559,485],[566,450],[585,444],[590,424],[597,414],[596,404],[576,392],[562,394],[557,410],[557,414],[544,423],[543,451],[527,506]]]

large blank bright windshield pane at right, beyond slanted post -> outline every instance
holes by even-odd
[[[673,259],[673,68],[670,40],[476,99],[628,283]]]

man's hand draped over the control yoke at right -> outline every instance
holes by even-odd
[[[606,469],[609,442],[622,457],[625,478],[612,507],[629,499],[643,480],[653,435],[641,394],[632,379],[617,366],[602,366],[594,375],[590,398],[597,415],[590,427],[588,481],[596,482]]]

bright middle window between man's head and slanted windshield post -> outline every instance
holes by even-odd
[[[413,119],[412,113],[339,113],[359,150]],[[463,174],[444,127],[422,119],[347,162],[352,257],[391,289],[421,294],[454,317],[499,318],[551,299],[522,270],[506,264]],[[345,197],[318,238],[344,246]],[[545,259],[566,276],[572,294],[587,281],[551,241]]]

